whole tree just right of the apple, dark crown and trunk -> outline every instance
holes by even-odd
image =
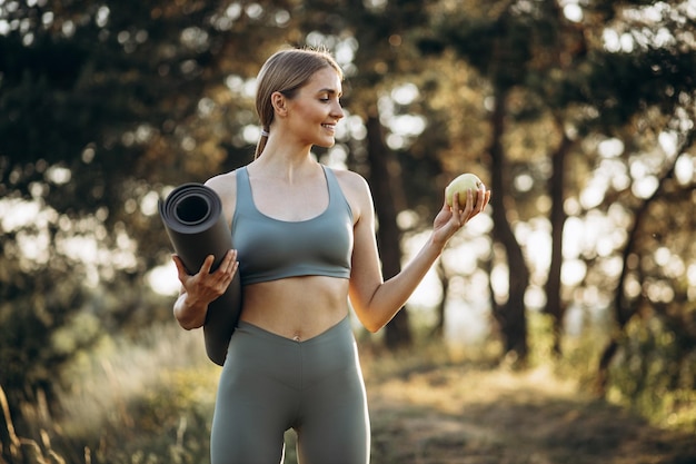
[[[489,85],[493,101],[488,112],[490,138],[484,152],[488,157],[494,191],[490,203],[495,225],[493,236],[504,250],[500,259],[507,268],[508,280],[507,297],[498,300],[491,290],[491,305],[503,334],[505,353],[524,363],[528,352],[525,293],[529,285],[529,269],[508,219],[514,198],[508,189],[511,169],[504,137],[510,92],[524,83],[527,67],[534,58],[535,21],[531,14],[517,11],[513,2],[495,2],[487,7],[469,2],[466,14],[461,11],[444,9],[430,28],[438,32],[424,37],[420,47],[424,52],[453,48]]]

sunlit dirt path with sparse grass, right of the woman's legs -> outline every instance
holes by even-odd
[[[430,366],[366,375],[372,464],[696,464],[663,431],[537,369]]]

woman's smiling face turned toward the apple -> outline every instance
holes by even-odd
[[[317,71],[296,97],[288,100],[289,129],[302,144],[334,146],[336,124],[344,117],[341,95],[340,77],[332,68]]]

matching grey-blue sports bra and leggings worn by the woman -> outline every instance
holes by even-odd
[[[260,213],[246,168],[237,170],[232,243],[241,284],[320,275],[350,277],[352,213],[324,167],[329,205],[284,221]],[[211,464],[278,464],[295,428],[302,464],[366,464],[370,427],[365,384],[348,317],[304,342],[239,322],[220,376]]]

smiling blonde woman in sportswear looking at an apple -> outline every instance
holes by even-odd
[[[282,50],[268,59],[258,76],[256,157],[207,181],[222,199],[236,249],[212,274],[212,257],[195,276],[173,258],[182,284],[175,315],[187,329],[203,324],[208,304],[240,273],[243,304],[220,376],[212,464],[279,463],[290,427],[304,464],[368,463],[369,418],[348,298],[362,325],[377,332],[447,240],[488,204],[490,192],[481,189],[444,205],[420,253],[384,282],[367,182],[310,156],[314,145],[335,144],[341,81],[325,51]]]

